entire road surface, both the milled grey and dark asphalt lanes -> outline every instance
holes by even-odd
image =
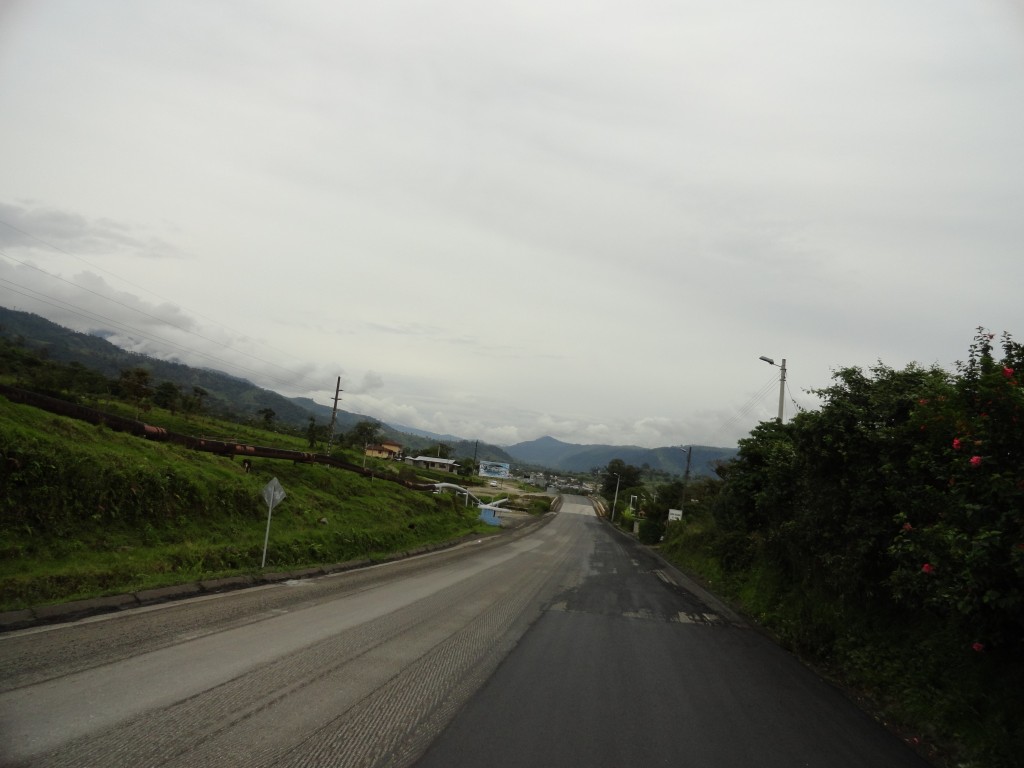
[[[545,525],[0,635],[0,764],[926,764],[618,536]]]

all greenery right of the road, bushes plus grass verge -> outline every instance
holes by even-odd
[[[1024,347],[998,347],[979,331],[955,374],[838,371],[819,411],[691,485],[681,522],[681,488],[626,492],[656,494],[642,540],[971,768],[1024,755]]]

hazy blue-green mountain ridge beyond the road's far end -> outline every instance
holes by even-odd
[[[531,464],[563,472],[589,472],[606,467],[608,462],[620,459],[634,467],[682,474],[686,471],[686,452],[678,447],[645,449],[638,445],[580,445],[562,442],[554,437],[540,437],[519,442],[505,449],[517,462]],[[690,475],[713,475],[715,466],[736,456],[736,449],[711,445],[690,446]]]

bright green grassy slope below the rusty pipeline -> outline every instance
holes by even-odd
[[[305,450],[298,438],[159,409],[146,421]],[[475,509],[449,495],[289,461],[254,459],[247,473],[238,459],[0,397],[0,610],[258,572],[260,492],[271,477],[288,496],[274,510],[267,570],[382,557],[478,528]]]

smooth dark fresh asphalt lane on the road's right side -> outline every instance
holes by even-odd
[[[927,765],[713,596],[573,513],[590,536],[570,578],[417,768]]]

